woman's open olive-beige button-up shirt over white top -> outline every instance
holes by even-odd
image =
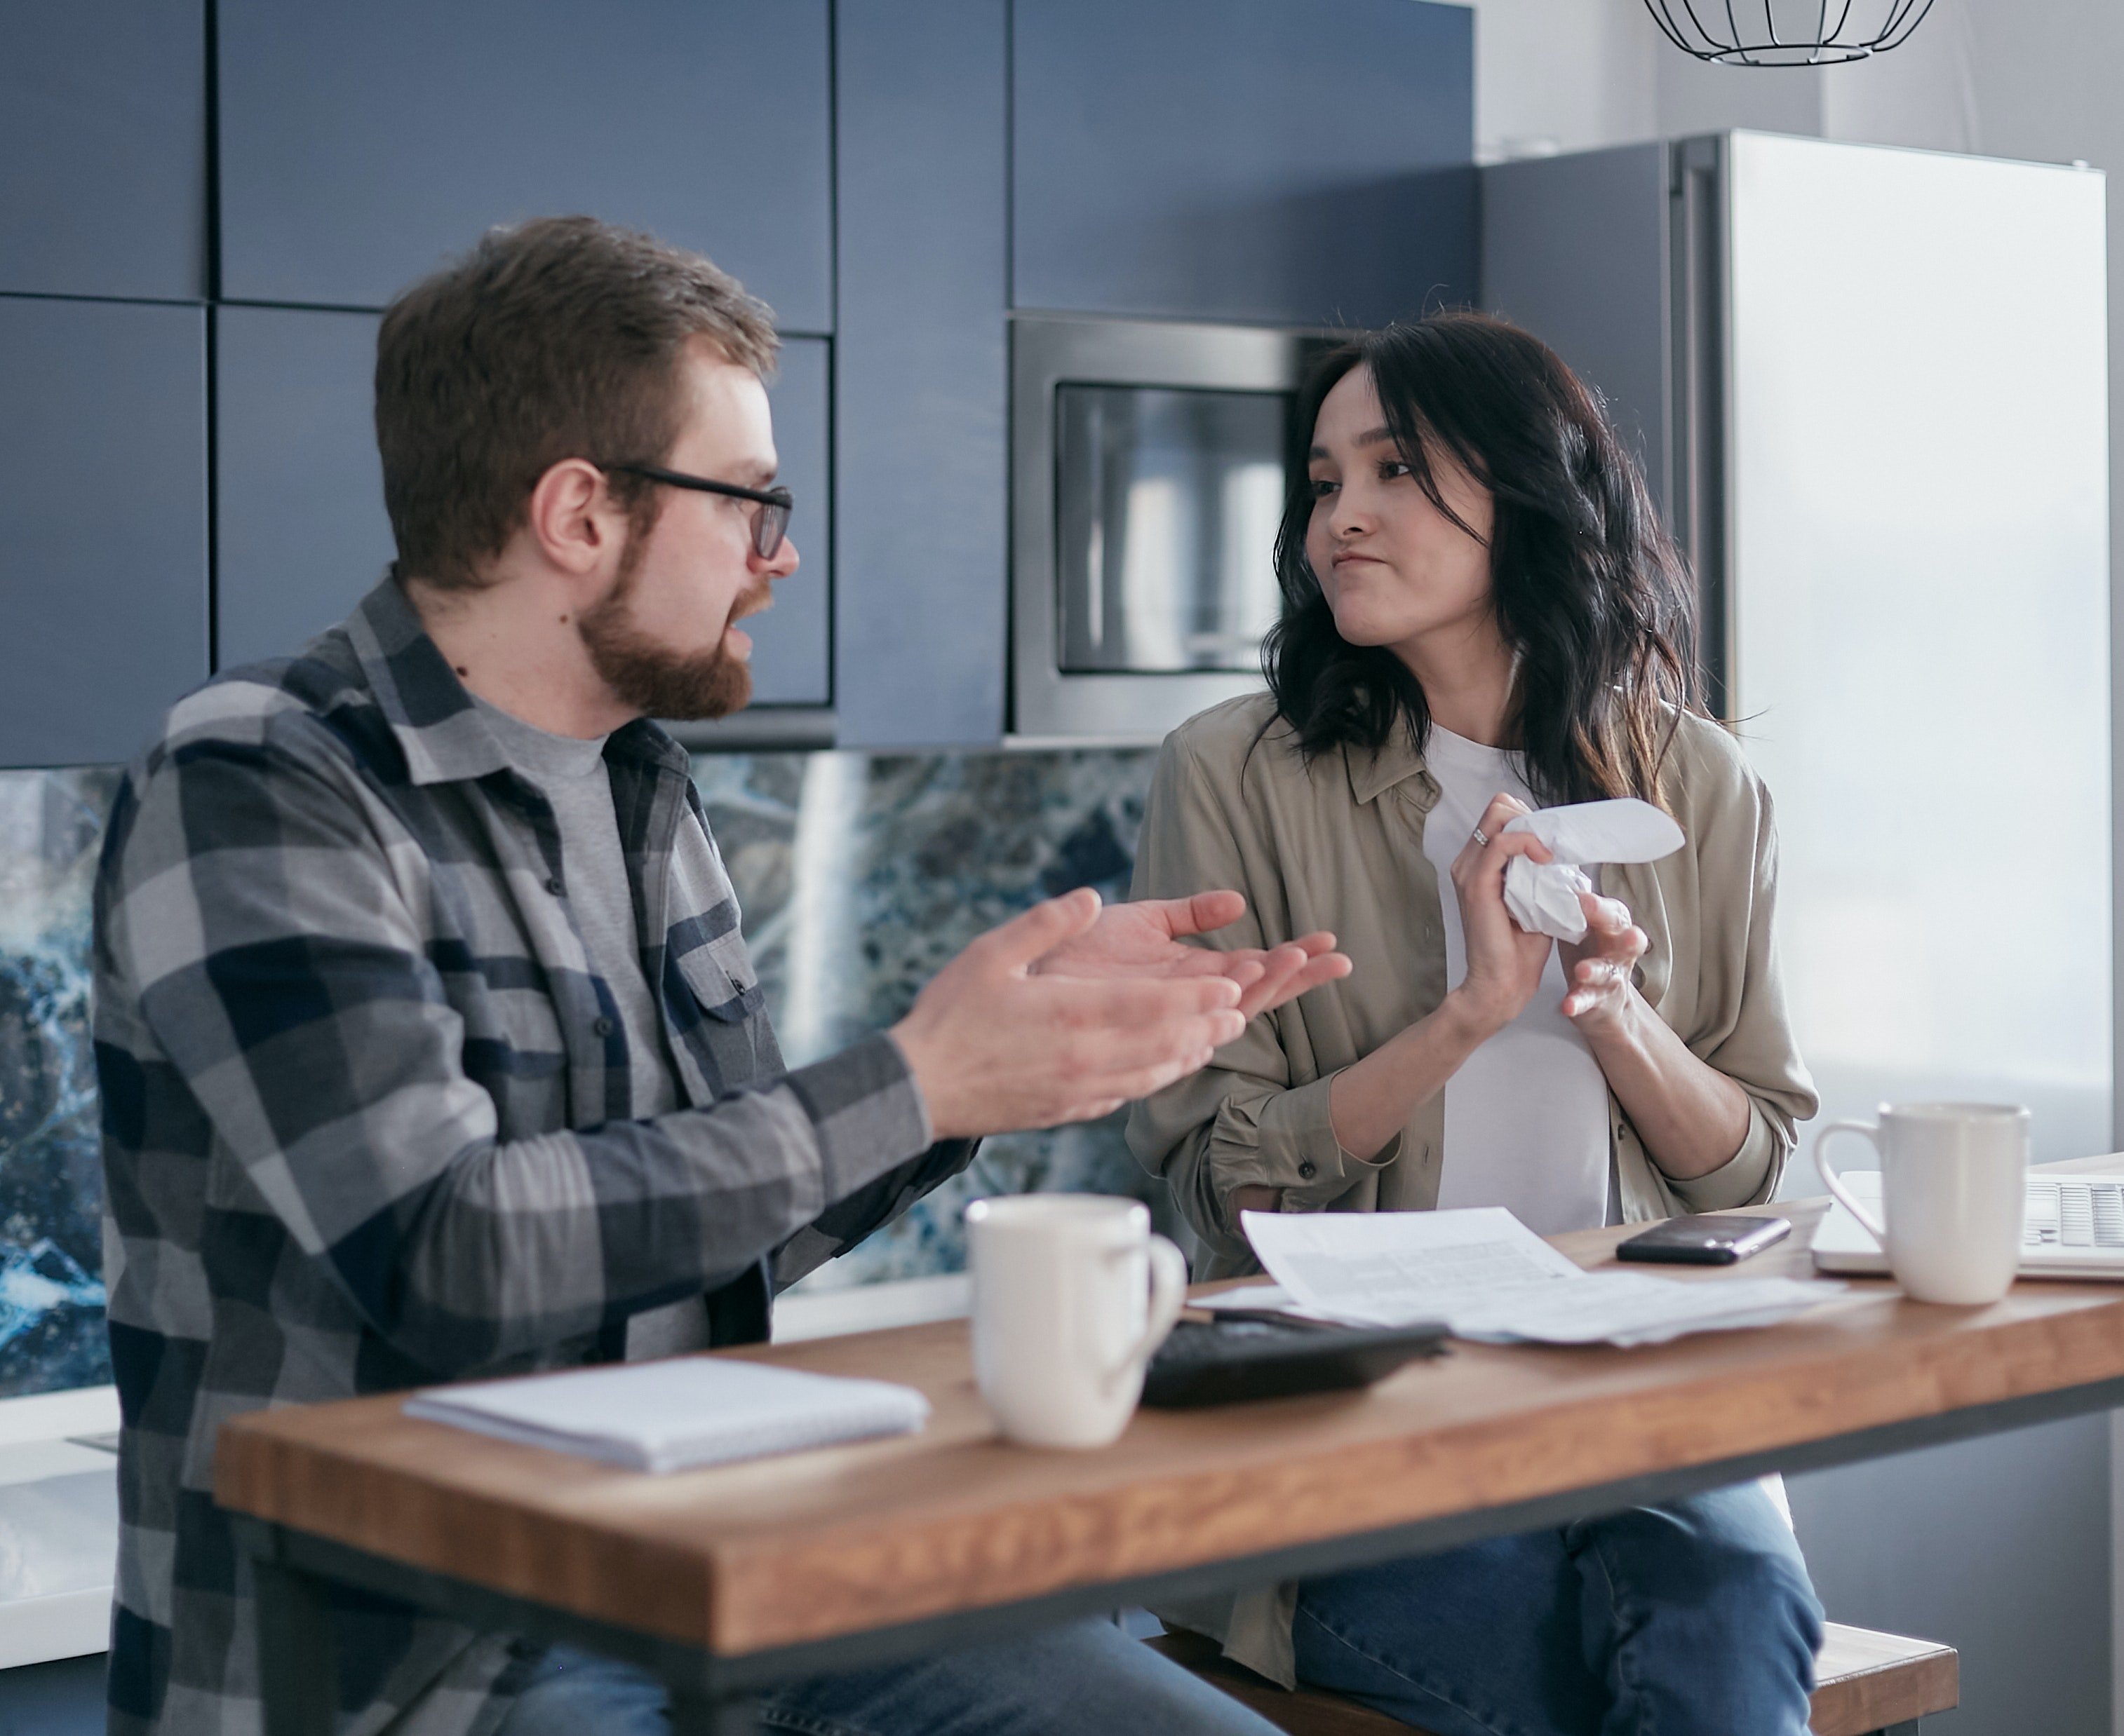
[[[1769,792],[1718,724],[1682,715],[1661,804],[1686,845],[1663,862],[1601,870],[1648,949],[1638,987],[1689,1051],[1748,1093],[1748,1133],[1708,1176],[1676,1180],[1646,1155],[1608,1093],[1623,1218],[1712,1212],[1771,1197],[1814,1082],[1784,1010],[1771,906],[1778,843]],[[1444,1093],[1432,1093],[1376,1159],[1344,1152],[1328,1116],[1334,1076],[1434,1012],[1446,993],[1438,876],[1423,821],[1438,785],[1398,734],[1376,756],[1330,749],[1311,764],[1266,694],[1213,707],[1158,756],[1134,898],[1234,887],[1247,915],[1213,947],[1274,947],[1332,930],[1355,970],[1255,1019],[1202,1072],[1136,1104],[1128,1144],[1164,1176],[1202,1239],[1198,1278],[1257,1271],[1232,1212],[1243,1186],[1283,1191],[1285,1212],[1421,1212],[1438,1201]],[[1291,1683],[1291,1587],[1175,1619]]]

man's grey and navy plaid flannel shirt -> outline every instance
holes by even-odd
[[[259,1730],[232,1416],[616,1358],[686,1295],[765,1337],[773,1284],[971,1157],[888,1038],[784,1072],[684,751],[637,722],[605,766],[688,1106],[654,1121],[552,809],[391,579],[130,768],[96,887],[113,1732]],[[535,1657],[370,1596],[333,1624],[346,1736],[489,1730]]]

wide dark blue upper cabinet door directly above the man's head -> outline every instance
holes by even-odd
[[[380,308],[588,212],[826,331],[826,0],[221,0],[221,289]]]

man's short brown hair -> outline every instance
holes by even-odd
[[[376,446],[397,571],[480,584],[561,458],[654,465],[678,444],[680,354],[705,337],[763,380],[767,303],[697,253],[590,216],[489,229],[399,295],[376,335]],[[607,475],[635,531],[654,484]]]

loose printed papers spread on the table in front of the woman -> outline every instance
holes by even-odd
[[[1502,1205],[1240,1216],[1287,1309],[1364,1326],[1442,1320],[1455,1337],[1489,1343],[1665,1343],[1682,1333],[1769,1326],[1844,1288],[1580,1271]],[[1226,1305],[1245,1305],[1243,1295],[1232,1292]]]

